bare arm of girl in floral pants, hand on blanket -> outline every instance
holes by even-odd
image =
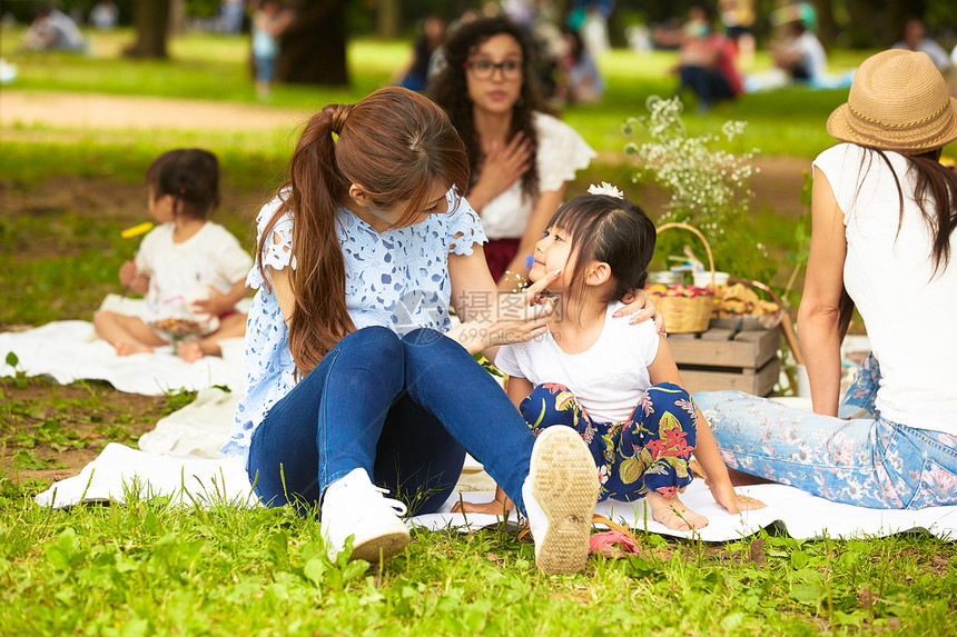
[[[668,339],[664,337],[659,338],[658,355],[651,365],[648,366],[651,382],[673,382],[683,389],[684,384],[681,381],[681,375],[678,372],[674,357],[671,356]],[[764,502],[749,498],[748,496],[739,496],[734,492],[734,488],[731,486],[731,478],[728,476],[728,467],[724,466],[724,460],[721,459],[718,442],[714,440],[711,427],[708,425],[704,414],[701,412],[697,405],[694,406],[694,422],[698,429],[694,457],[704,470],[704,481],[708,488],[711,489],[714,500],[731,514],[764,508],[767,506]]]

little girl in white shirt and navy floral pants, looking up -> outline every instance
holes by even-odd
[[[730,512],[763,507],[732,489],[664,337],[650,321],[628,326],[609,318],[621,306],[616,299],[644,286],[655,230],[616,189],[590,192],[602,193],[559,208],[535,245],[531,279],[562,270],[547,286],[560,310],[546,334],[499,350],[495,365],[510,377],[509,397],[536,436],[554,425],[581,434],[598,467],[599,499],[647,498],[652,517],[668,528],[706,526],[708,519],[678,496],[691,482],[693,451],[714,499]],[[501,514],[503,507],[511,504],[500,490],[492,502],[465,509]]]

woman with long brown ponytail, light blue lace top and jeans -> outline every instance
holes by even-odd
[[[265,504],[318,504],[330,557],[352,541],[377,560],[408,544],[407,508],[445,502],[467,450],[529,517],[539,566],[578,571],[598,494],[588,448],[570,428],[536,440],[473,358],[543,334],[554,305],[539,292],[558,273],[496,295],[467,186],[458,135],[417,93],[309,120],[257,220],[248,388],[223,451],[247,458]]]

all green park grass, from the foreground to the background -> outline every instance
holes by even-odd
[[[20,68],[3,90],[99,91],[251,102],[247,42],[189,34],[174,60],[118,58],[129,31],[96,36],[98,58],[22,56],[16,31],[0,53]],[[355,101],[386,82],[407,44],[351,47],[348,90],[279,87],[274,104]],[[864,53],[848,53],[848,63]],[[614,51],[602,59],[612,83],[601,107],[565,117],[602,156],[570,186],[622,182],[620,126],[649,94],[668,94],[673,57]],[[640,62],[640,63],[639,63]],[[832,140],[823,118],[846,91],[748,96],[707,116],[692,135],[727,118],[748,119],[734,150],[812,157]],[[147,219],[142,176],[160,151],[205,146],[223,165],[216,220],[253,245],[258,205],[282,180],[287,131],[82,131],[12,127],[0,139],[0,325],[89,318],[135,252],[121,228]],[[739,143],[739,142],[736,142]],[[752,220],[781,260],[798,220],[756,210]],[[142,397],[139,397],[142,398]],[[778,533],[708,545],[639,534],[640,557],[592,558],[582,575],[546,577],[530,544],[497,529],[471,535],[417,531],[403,555],[368,570],[329,561],[318,527],[288,509],[171,507],[139,494],[127,505],[47,510],[32,495],[63,471],[68,454],[132,444],[157,418],[191,400],[175,395],[132,404],[96,382],[68,387],[0,380],[0,634],[954,634],[957,556],[924,534],[797,541]]]

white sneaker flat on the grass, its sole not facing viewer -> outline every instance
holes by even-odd
[[[404,549],[412,538],[398,516],[405,505],[386,498],[388,489],[372,484],[365,469],[353,469],[326,489],[322,506],[323,539],[335,561],[354,535],[353,559],[378,561]]]

